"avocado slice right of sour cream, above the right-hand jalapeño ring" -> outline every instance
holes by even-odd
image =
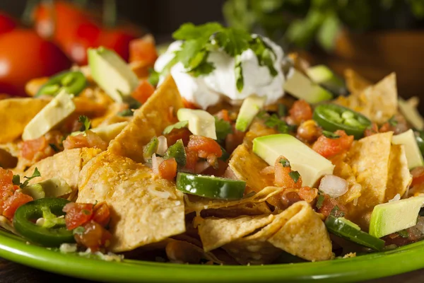
[[[333,98],[329,91],[311,81],[300,71],[293,69],[290,73],[283,88],[295,98],[306,100],[307,103],[319,103]]]

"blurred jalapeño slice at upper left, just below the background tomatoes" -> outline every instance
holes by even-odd
[[[35,96],[57,96],[61,88],[74,96],[78,96],[86,88],[87,79],[81,71],[62,71],[45,83]]]

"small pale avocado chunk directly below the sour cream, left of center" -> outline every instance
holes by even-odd
[[[189,121],[189,130],[193,134],[216,139],[215,118],[205,110],[181,108],[177,117],[179,121]]]

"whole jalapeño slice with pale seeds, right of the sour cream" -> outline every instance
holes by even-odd
[[[355,139],[363,137],[365,129],[371,125],[371,121],[364,115],[335,104],[318,105],[312,118],[326,131],[343,129]]]

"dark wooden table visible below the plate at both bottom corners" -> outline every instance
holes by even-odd
[[[24,265],[10,262],[0,258],[0,282],[1,283],[35,283],[35,282],[75,282],[76,279],[61,275],[54,275],[49,272],[35,270]],[[81,280],[78,282],[90,283],[91,281]],[[424,282],[424,269],[408,272],[403,275],[396,275],[382,279],[367,281],[366,283],[416,283]]]

